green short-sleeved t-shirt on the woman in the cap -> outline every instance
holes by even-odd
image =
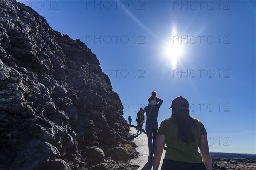
[[[195,134],[196,142],[187,144],[178,139],[178,126],[174,119],[168,118],[161,122],[157,135],[166,137],[166,153],[164,159],[173,161],[203,163],[201,154],[198,151],[200,136],[207,134],[204,125],[195,119],[195,126],[192,124],[192,132]]]

